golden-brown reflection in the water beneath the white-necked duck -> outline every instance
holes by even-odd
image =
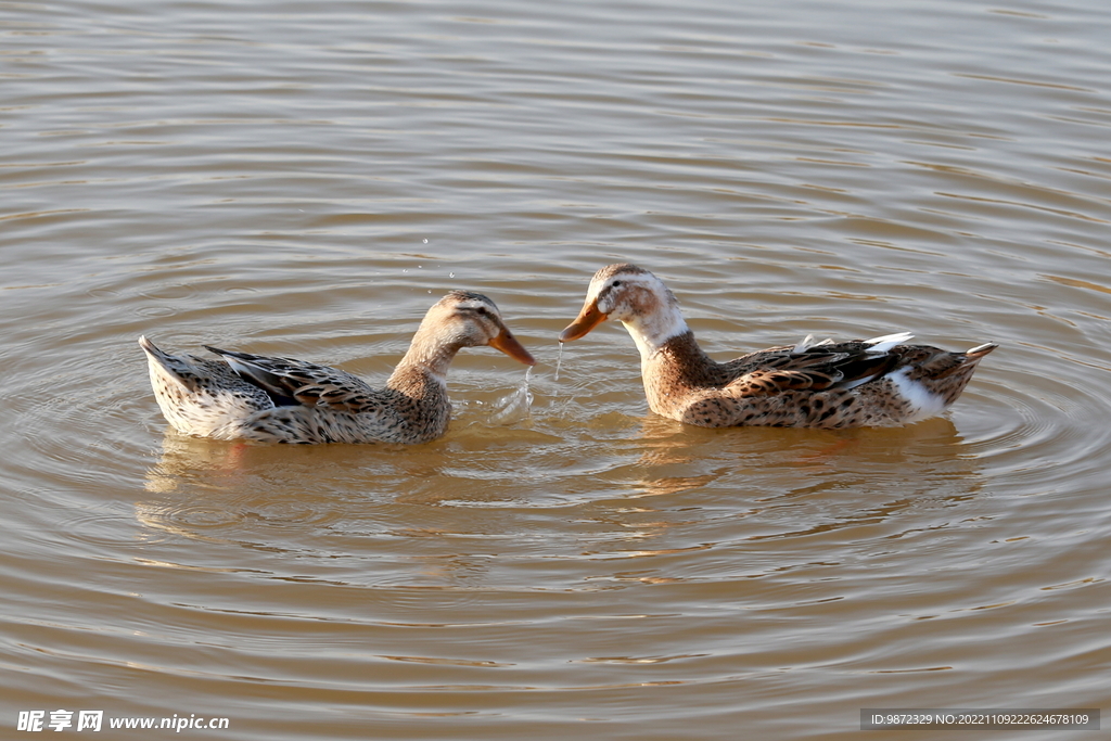
[[[898,430],[702,430],[649,414],[597,558],[642,558],[831,534],[901,538],[907,510],[937,510],[982,489],[980,464],[948,419]],[[635,501],[633,507],[631,502]],[[727,509],[728,508],[728,509]],[[721,518],[715,509],[724,509]],[[947,523],[931,522],[931,528]],[[679,541],[669,531],[679,530]],[[691,531],[699,542],[688,542]],[[839,531],[843,531],[839,533]],[[715,538],[710,538],[713,533]],[[773,568],[780,568],[779,565]],[[643,574],[639,580],[644,580]],[[672,580],[655,573],[651,579]]]

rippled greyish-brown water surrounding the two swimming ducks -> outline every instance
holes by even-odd
[[[0,33],[10,733],[847,739],[861,708],[1108,704],[1111,6],[4,3]],[[618,260],[720,359],[1002,347],[903,430],[688,429],[620,328],[553,378]],[[169,432],[136,344],[380,383],[457,287],[541,361],[533,400],[499,423],[523,369],[468,351],[416,448]]]

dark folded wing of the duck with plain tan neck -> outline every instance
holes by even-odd
[[[374,389],[338,368],[204,347],[223,358],[240,378],[266,391],[279,407],[328,407],[352,413],[379,407]]]

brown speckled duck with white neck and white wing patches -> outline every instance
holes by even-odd
[[[559,340],[578,340],[607,319],[624,324],[640,350],[649,408],[707,428],[910,424],[944,412],[999,347],[948,352],[908,344],[909,332],[849,342],[808,336],[717,362],[699,347],[663,281],[630,263],[594,273],[582,311]]]

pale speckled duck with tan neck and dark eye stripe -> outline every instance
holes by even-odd
[[[448,428],[447,374],[459,350],[490,346],[536,364],[494,302],[472,291],[452,291],[428,310],[382,389],[347,371],[292,358],[209,346],[218,359],[176,356],[146,336],[139,346],[158,405],[178,431],[278,443],[428,442]]]

